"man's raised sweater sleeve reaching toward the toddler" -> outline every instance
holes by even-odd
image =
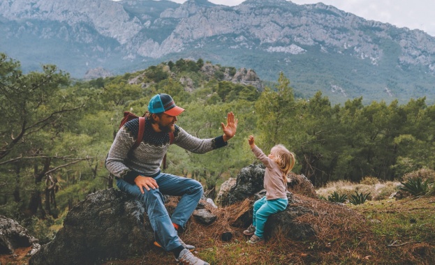
[[[177,144],[177,146],[180,146],[183,149],[186,149],[187,151],[191,151],[193,153],[207,153],[214,149],[218,149],[228,145],[227,142],[223,141],[222,135],[215,138],[199,139],[197,137],[194,137],[193,135],[190,135],[181,127],[178,127],[177,129],[179,131],[175,136],[174,144]]]

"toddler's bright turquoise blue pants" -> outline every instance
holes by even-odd
[[[288,199],[270,199],[266,197],[258,199],[253,203],[253,221],[252,225],[256,227],[256,236],[263,239],[265,232],[265,223],[267,217],[272,213],[278,213],[284,211],[287,207]]]

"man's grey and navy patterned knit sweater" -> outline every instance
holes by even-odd
[[[146,120],[142,142],[138,148],[130,150],[138,137],[138,130],[139,119],[124,124],[117,132],[105,161],[105,167],[110,173],[129,183],[134,183],[138,175],[154,177],[160,174],[161,162],[170,144],[169,133],[155,132],[151,121]],[[222,135],[198,139],[175,125],[173,144],[193,153],[206,153],[228,143],[223,141]]]

